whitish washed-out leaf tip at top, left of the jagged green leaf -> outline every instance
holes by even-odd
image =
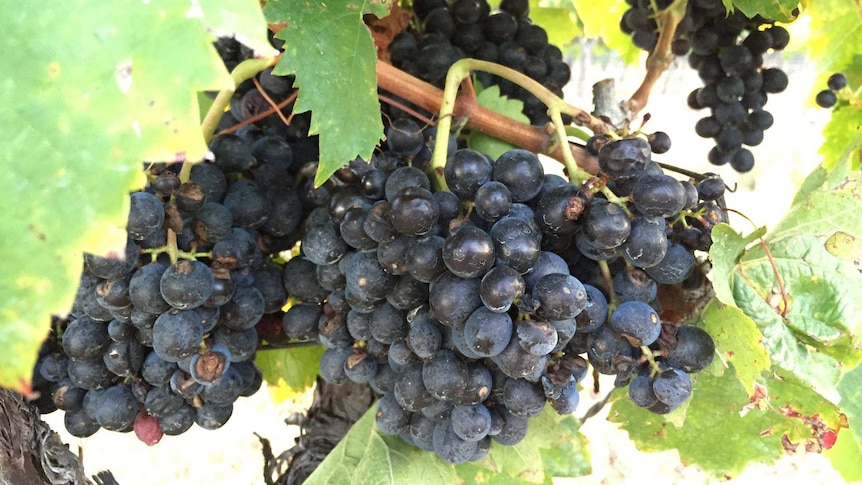
[[[259,0],[199,0],[199,5],[204,24],[215,36],[234,37],[260,57],[277,54],[266,37]]]

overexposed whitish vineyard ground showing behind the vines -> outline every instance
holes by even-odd
[[[677,61],[679,64],[684,61]],[[738,182],[739,190],[728,197],[730,207],[745,207],[745,213],[756,224],[771,224],[789,205],[795,187],[820,161],[817,148],[820,133],[829,117],[826,110],[813,107],[811,98],[817,72],[802,58],[790,61],[774,59],[767,65],[779,65],[788,74],[788,90],[773,95],[767,109],[775,116],[763,144],[753,152],[757,163],[753,172],[737,175],[729,167],[710,166],[705,154],[710,140],[697,138],[692,127],[701,112],[685,106],[685,95],[699,85],[694,72],[680,64],[669,70],[650,99],[648,112],[653,113],[646,131],[663,130],[671,136],[673,147],[660,161],[679,165],[694,171],[714,171],[729,184]],[[631,93],[641,76],[640,68],[624,68],[618,62],[602,64],[590,59],[575,61],[572,65],[572,82],[566,89],[566,99],[577,106],[590,106],[590,85],[604,77],[617,79],[618,94]],[[780,134],[792,136],[779,138]],[[693,159],[686,160],[688,154]],[[726,169],[726,170],[723,170]],[[767,174],[768,176],[764,176]],[[757,180],[758,182],[755,182]],[[732,224],[741,230],[749,225],[731,214]],[[587,381],[591,386],[591,381]],[[610,389],[612,378],[602,382],[602,389]],[[604,391],[603,391],[604,392]],[[578,414],[602,395],[590,390],[581,394]],[[193,428],[178,437],[165,437],[158,445],[148,448],[130,434],[100,431],[87,439],[77,439],[63,428],[62,413],[45,417],[49,425],[60,433],[63,441],[73,450],[83,451],[84,466],[88,473],[110,469],[121,485],[161,483],[262,483],[263,457],[261,444],[254,433],[270,440],[277,454],[293,446],[299,429],[286,426],[284,419],[301,413],[311,403],[311,393],[275,404],[268,392],[262,389],[251,398],[238,400],[230,421],[216,432]],[[783,484],[794,482],[809,485],[836,485],[845,483],[828,461],[821,455],[800,453],[787,456],[777,464],[752,465],[741,476],[720,482],[693,467],[680,464],[677,452],[643,453],[638,451],[624,431],[609,423],[605,408],[589,419],[582,432],[590,442],[589,453],[593,473],[577,479],[555,480],[567,485],[620,485],[644,483],[644,477],[660,479],[670,484]],[[720,452],[720,451],[719,451]]]

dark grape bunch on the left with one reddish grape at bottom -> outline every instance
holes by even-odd
[[[124,253],[85,257],[34,370],[41,411],[65,411],[74,436],[134,430],[153,444],[216,429],[261,385],[257,328],[280,328],[288,297],[270,255],[295,245],[311,181],[274,136],[221,135],[210,149],[185,182],[180,164],[149,167]]]

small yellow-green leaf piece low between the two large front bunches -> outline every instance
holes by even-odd
[[[266,350],[257,353],[255,363],[271,387],[277,400],[283,401],[314,385],[320,368],[322,345]]]

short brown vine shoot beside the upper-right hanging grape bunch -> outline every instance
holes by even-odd
[[[629,112],[629,120],[634,119],[634,117],[644,109],[647,101],[649,101],[649,95],[655,86],[655,83],[676,58],[676,56],[671,52],[671,43],[673,42],[673,36],[676,33],[676,27],[685,16],[685,7],[687,3],[688,0],[676,0],[673,4],[656,15],[655,20],[659,25],[658,42],[656,43],[655,49],[653,49],[649,57],[647,57],[647,72],[644,76],[644,80],[641,82],[637,91],[635,91],[626,103],[626,108]]]

